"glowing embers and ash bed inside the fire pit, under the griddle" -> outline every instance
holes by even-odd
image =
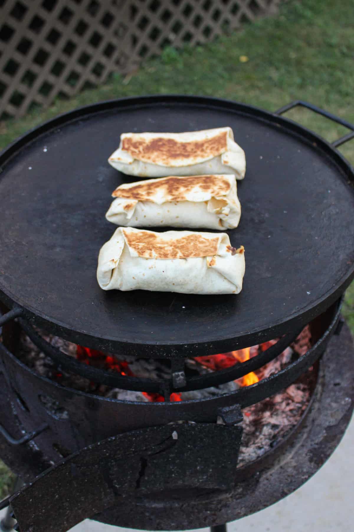
[[[105,354],[87,347],[77,346],[53,335],[45,335],[44,331],[40,331],[40,333],[51,345],[60,348],[61,351],[68,355],[74,356],[77,360],[81,360],[82,363],[92,365],[93,367],[110,369],[121,375],[134,375],[135,377],[171,378],[170,364],[165,360],[146,360],[125,355]],[[299,356],[305,354],[311,347],[310,340],[310,328],[306,327],[301,331],[301,334],[291,347],[287,347],[281,355],[268,364],[265,364],[265,366],[256,372],[248,373],[248,375],[241,377],[237,381],[231,380],[220,386],[173,393],[170,396],[170,401],[212,398],[234,392],[243,386],[250,386],[286,368],[291,361],[295,361]],[[248,348],[230,353],[187,359],[185,362],[186,372],[193,376],[226,369],[234,366],[237,362],[243,362],[244,359],[248,360],[250,352],[251,358],[253,358],[275,343],[276,341],[273,340],[261,346],[253,346],[252,350]],[[20,337],[17,356],[30,369],[34,369],[39,375],[54,380],[61,386],[118,400],[144,402],[165,401],[165,398],[158,393],[134,392],[131,390],[110,388],[93,383],[89,379],[85,379],[77,374],[65,372],[62,369],[59,371],[53,360],[41,352],[24,332],[22,332]],[[303,414],[309,403],[316,377],[317,372],[312,368],[286,390],[260,403],[256,403],[245,410],[243,422],[244,432],[239,451],[238,467],[251,460],[255,460],[273,448],[277,442],[279,443],[282,437],[297,425],[301,414]],[[68,418],[67,411],[56,401],[50,400],[46,395],[41,395],[40,399],[53,415],[59,418]],[[63,448],[63,443],[62,445],[53,443],[53,447],[60,453],[61,448]]]

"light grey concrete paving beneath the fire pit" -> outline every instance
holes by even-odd
[[[308,482],[282,501],[240,521],[228,532],[350,532],[354,489],[354,418],[330,460]],[[0,516],[4,512],[0,512]],[[125,532],[86,519],[71,532]],[[208,528],[199,529],[207,532]]]

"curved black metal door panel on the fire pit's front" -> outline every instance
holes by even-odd
[[[171,423],[85,447],[11,498],[19,530],[63,532],[123,497],[231,489],[241,435],[235,425]]]

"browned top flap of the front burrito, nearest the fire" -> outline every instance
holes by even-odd
[[[127,231],[123,229],[126,243],[145,259],[189,259],[216,255],[220,237],[205,238],[186,235],[174,240],[161,238],[152,231]]]

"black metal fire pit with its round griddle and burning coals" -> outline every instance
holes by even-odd
[[[229,231],[231,245],[246,248],[241,294],[103,293],[94,272],[112,229],[102,213],[127,179],[105,164],[119,133],[220,125],[247,157],[243,215]],[[277,114],[161,96],[63,115],[10,146],[0,165],[0,294],[12,309],[0,320],[0,455],[25,482],[11,498],[20,530],[66,530],[85,517],[144,529],[219,525],[321,467],[349,422],[354,379],[347,328],[331,341],[354,275],[353,175],[332,146]],[[285,360],[308,323],[308,350]],[[20,330],[54,378],[23,359]],[[138,375],[136,359],[157,359],[159,371]],[[265,376],[270,363],[278,371]],[[77,389],[73,375],[92,389]],[[247,455],[243,414],[300,378],[308,391],[297,421],[267,452]],[[210,388],[218,391],[190,395]]]

